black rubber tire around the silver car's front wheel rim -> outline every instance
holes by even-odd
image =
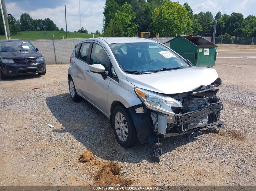
[[[115,129],[115,117],[116,114],[120,112],[124,117],[125,117],[125,121],[127,123],[127,127],[128,127],[128,136],[127,139],[125,141],[122,141],[118,135],[117,135],[117,131]],[[118,143],[124,147],[124,148],[130,148],[130,147],[134,147],[135,145],[138,144],[138,137],[137,137],[137,131],[135,129],[135,125],[133,122],[133,119],[131,118],[130,113],[128,112],[128,110],[124,107],[121,106],[117,106],[113,113],[112,113],[112,128],[114,130],[115,133],[115,138],[118,141]],[[125,122],[124,122],[125,123]]]

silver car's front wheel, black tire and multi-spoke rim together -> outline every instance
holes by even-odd
[[[126,108],[117,106],[112,115],[112,127],[119,144],[125,148],[138,144],[137,132],[130,113]]]

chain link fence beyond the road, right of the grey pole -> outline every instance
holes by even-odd
[[[256,45],[256,37],[216,37],[215,44]]]

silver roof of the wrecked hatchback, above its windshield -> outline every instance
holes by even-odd
[[[86,40],[104,40],[108,44],[114,43],[157,43],[154,40],[149,40],[145,38],[129,38],[129,37],[98,37],[93,39],[86,39]]]

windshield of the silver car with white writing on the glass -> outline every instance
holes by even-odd
[[[125,72],[154,72],[190,67],[180,56],[159,43],[116,43],[109,46]]]

